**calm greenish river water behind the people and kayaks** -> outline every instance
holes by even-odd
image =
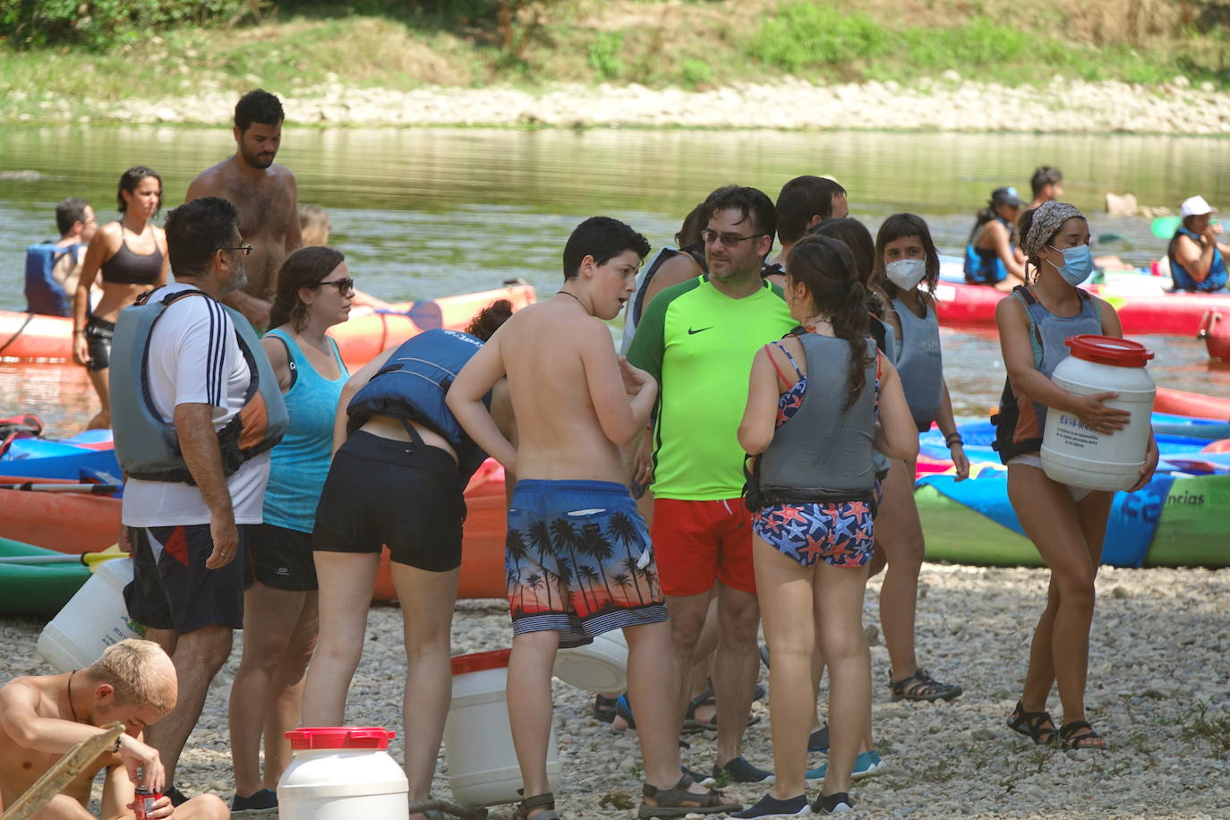
[[[25,246],[55,234],[63,197],[91,200],[116,219],[124,168],[148,165],[166,207],[191,179],[234,151],[225,128],[0,125],[0,309],[21,310]],[[1144,205],[1196,193],[1230,208],[1230,140],[1180,136],[793,133],[717,130],[497,130],[288,128],[278,161],[301,203],[326,208],[331,243],[358,285],[387,300],[486,290],[522,277],[540,294],[560,283],[560,254],[585,216],[616,216],[654,246],[711,189],[755,186],[776,199],[787,179],[831,175],[850,191],[851,215],[872,234],[889,214],[924,215],[941,252],[961,253],[973,215],[999,186],[1028,194],[1038,165],[1065,175],[1065,199],[1090,214],[1098,253],[1145,266],[1165,242],[1144,218],[1109,218],[1103,198]],[[617,332],[617,328],[616,328]],[[945,328],[945,364],[958,414],[985,417],[1002,387],[994,334]],[[1230,393],[1230,373],[1209,370],[1194,339],[1144,337],[1166,386]],[[0,417],[43,416],[69,434],[93,413],[84,371],[0,364]]]

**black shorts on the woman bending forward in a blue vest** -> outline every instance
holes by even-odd
[[[316,507],[316,552],[380,552],[428,572],[461,566],[464,487],[439,447],[355,432],[333,456]]]

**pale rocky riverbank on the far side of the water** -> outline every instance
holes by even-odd
[[[253,77],[255,80],[255,77]],[[704,91],[638,85],[556,85],[535,91],[507,86],[428,86],[412,91],[346,87],[271,89],[283,96],[288,120],[317,125],[494,125],[554,128],[900,129],[1209,134],[1230,133],[1230,93],[1184,77],[1161,86],[1054,79],[1007,87],[946,73],[911,85],[813,85],[786,77]],[[205,81],[192,96],[119,103],[69,103],[17,89],[0,103],[10,122],[121,122],[221,124],[235,93]],[[5,109],[9,109],[7,112]]]

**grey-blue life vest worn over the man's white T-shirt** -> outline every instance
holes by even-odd
[[[116,457],[129,478],[196,484],[183,461],[175,425],[162,420],[150,396],[150,339],[154,323],[169,305],[188,296],[213,296],[200,290],[177,290],[148,301],[149,295],[119,313],[111,343],[111,418]],[[230,476],[245,461],[282,440],[288,417],[282,388],[256,331],[239,311],[225,305],[223,310],[235,328],[239,349],[251,374],[242,409],[218,430],[223,473]]]

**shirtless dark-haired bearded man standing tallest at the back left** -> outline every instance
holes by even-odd
[[[239,209],[239,232],[252,252],[244,261],[247,285],[225,301],[263,331],[269,325],[274,278],[282,261],[303,243],[295,175],[277,165],[285,118],[277,96],[257,89],[235,104],[235,155],[202,171],[184,202],[221,197]]]

